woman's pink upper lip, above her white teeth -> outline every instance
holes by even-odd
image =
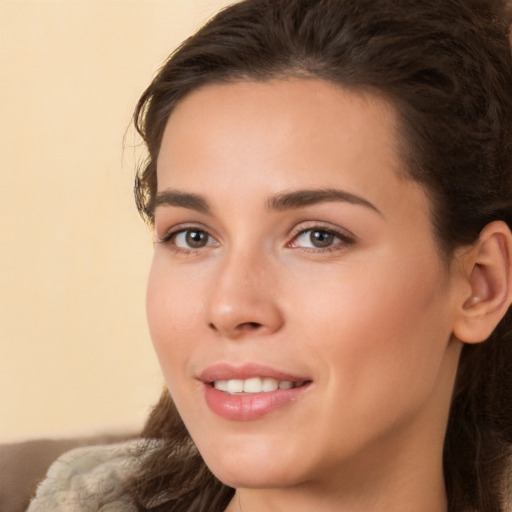
[[[279,381],[290,382],[304,382],[311,379],[303,376],[292,375],[270,366],[265,366],[257,363],[247,363],[240,366],[234,366],[227,363],[215,364],[203,370],[198,379],[211,383],[216,380],[231,380],[231,379],[250,379],[251,377],[270,377]]]

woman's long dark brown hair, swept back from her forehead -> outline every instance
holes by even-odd
[[[246,0],[174,52],[142,95],[147,149],[135,196],[153,223],[156,160],[177,103],[203,85],[312,76],[384,96],[410,177],[432,202],[439,246],[512,227],[512,22],[507,0]],[[462,351],[444,450],[450,512],[504,510],[512,445],[512,313]],[[161,445],[129,483],[141,511],[223,511],[234,490],[205,466],[164,392],[143,437]]]

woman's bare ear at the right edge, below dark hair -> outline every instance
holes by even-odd
[[[510,229],[502,221],[491,222],[463,258],[470,292],[461,300],[453,334],[465,343],[479,343],[491,335],[512,302]]]

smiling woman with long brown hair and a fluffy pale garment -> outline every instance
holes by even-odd
[[[507,510],[511,18],[248,0],[171,56],[135,113],[169,392],[69,510]]]

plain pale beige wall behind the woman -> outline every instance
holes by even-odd
[[[133,106],[227,0],[0,0],[0,441],[138,428],[162,379]]]

